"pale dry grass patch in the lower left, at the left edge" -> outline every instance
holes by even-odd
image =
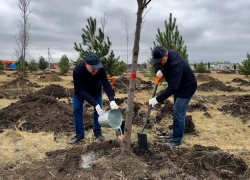
[[[67,137],[62,135],[55,142],[54,135],[49,133],[6,130],[0,134],[0,168],[42,160],[48,151],[65,149],[66,139]]]

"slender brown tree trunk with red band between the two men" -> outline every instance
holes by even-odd
[[[133,109],[134,109],[134,93],[135,93],[135,83],[136,83],[136,72],[137,72],[137,61],[139,55],[139,42],[141,35],[141,24],[142,24],[142,13],[145,6],[150,2],[146,0],[137,0],[138,11],[137,11],[137,21],[136,21],[136,31],[135,31],[135,41],[133,47],[133,59],[132,59],[132,69],[129,82],[129,92],[128,92],[128,102],[127,102],[127,111],[126,111],[126,124],[125,124],[125,133],[123,140],[123,153],[130,152],[131,144],[131,131],[132,131],[132,119],[133,119]]]

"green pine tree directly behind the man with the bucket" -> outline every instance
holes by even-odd
[[[88,25],[86,25],[86,29],[83,29],[83,34],[82,34],[82,44],[84,46],[87,46],[87,49],[84,50],[82,48],[82,45],[79,44],[79,46],[75,44],[75,50],[79,52],[81,61],[84,61],[85,57],[89,53],[95,53],[98,57],[100,57],[101,62],[103,66],[109,67],[110,65],[107,65],[107,60],[113,60],[117,59],[114,57],[113,51],[110,53],[110,47],[111,47],[111,42],[109,40],[109,37],[105,37],[104,35],[104,27],[106,25],[106,19],[105,17],[102,19],[102,29],[96,27],[96,19],[93,19],[92,17],[87,19]],[[108,57],[107,57],[108,56]],[[113,59],[111,58],[113,57]],[[116,63],[121,63],[119,61],[113,61]],[[111,62],[109,62],[110,64]],[[73,62],[75,65],[76,62]],[[117,68],[118,66],[113,66],[114,68]],[[117,71],[117,70],[114,70]],[[123,71],[124,72],[124,71]],[[122,71],[119,72],[119,74],[123,73]],[[109,74],[111,74],[109,72]],[[112,75],[112,74],[111,74]]]

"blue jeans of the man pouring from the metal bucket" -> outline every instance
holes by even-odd
[[[102,108],[102,93],[98,96],[92,96],[92,98]],[[83,103],[84,100],[74,94],[73,96],[73,119],[75,124],[75,132],[77,136],[84,136],[84,121],[83,121]],[[97,114],[94,107],[94,133],[101,132],[101,126],[98,122],[99,115]]]

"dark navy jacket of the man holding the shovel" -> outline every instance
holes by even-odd
[[[166,90],[156,97],[163,102],[171,95],[177,98],[190,98],[197,89],[197,80],[187,61],[176,51],[168,50],[168,60],[163,67],[154,65],[155,71],[161,70],[168,82]]]

